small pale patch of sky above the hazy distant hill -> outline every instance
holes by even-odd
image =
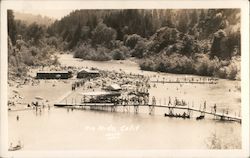
[[[17,12],[20,12],[20,13],[31,13],[31,14],[34,14],[34,15],[42,15],[42,16],[47,16],[49,18],[53,18],[53,19],[61,19],[62,17],[68,15],[71,11],[73,10],[68,10],[68,9],[64,9],[64,10],[47,10],[47,9],[44,9],[44,10],[15,10]]]

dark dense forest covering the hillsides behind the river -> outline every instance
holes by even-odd
[[[143,70],[240,79],[239,9],[75,10],[51,25],[27,24],[9,10],[8,33],[16,69],[57,64],[53,52],[70,51],[85,60],[135,58]]]

